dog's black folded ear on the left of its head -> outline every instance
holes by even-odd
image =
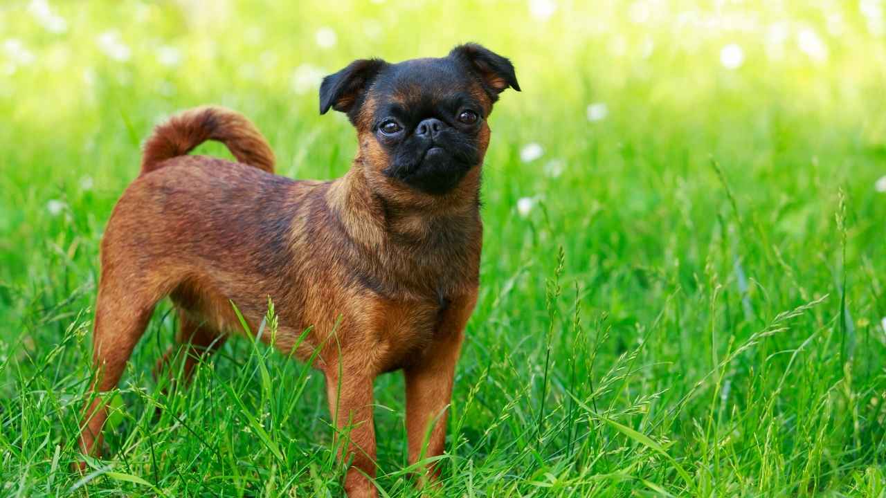
[[[332,108],[347,113],[354,121],[366,89],[386,65],[380,58],[361,58],[338,73],[323,78],[320,84],[320,113],[325,114]]]

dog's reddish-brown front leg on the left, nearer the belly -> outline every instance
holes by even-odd
[[[340,368],[332,364],[325,372],[330,414],[337,426],[338,455],[344,462],[351,461],[345,477],[348,498],[377,496],[375,485],[367,479],[376,477],[376,430],[372,419],[375,376],[366,370],[343,359]]]

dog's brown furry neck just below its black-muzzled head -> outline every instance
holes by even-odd
[[[459,191],[436,198],[397,191],[389,183],[379,184],[386,179],[373,182],[367,176],[358,156],[347,174],[332,183],[327,196],[347,234],[361,245],[417,248],[439,244],[441,238],[467,239],[480,229],[479,167],[464,178]]]

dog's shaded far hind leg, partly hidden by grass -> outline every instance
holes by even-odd
[[[207,323],[199,323],[183,309],[179,308],[179,329],[175,335],[175,341],[183,346],[183,380],[185,384],[190,382],[194,375],[194,369],[200,360],[213,354],[224,344],[227,336],[216,331]],[[161,375],[168,375],[172,383],[175,371],[172,369],[172,359],[175,356],[176,346],[170,346],[166,354],[157,362],[154,368],[154,377],[158,380]]]

